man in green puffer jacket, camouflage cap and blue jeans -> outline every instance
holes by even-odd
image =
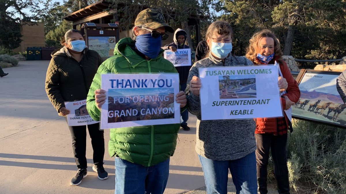
[[[121,39],[114,55],[99,67],[91,84],[86,108],[94,120],[100,120],[100,108],[106,100],[101,88],[101,74],[106,73],[177,73],[171,62],[161,57],[166,31],[174,32],[156,9],[140,12],[131,38]],[[176,95],[183,108],[186,96]],[[124,127],[110,129],[108,151],[115,156],[115,193],[163,193],[169,175],[169,158],[173,155],[180,124]]]

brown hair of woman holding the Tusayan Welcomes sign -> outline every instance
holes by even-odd
[[[231,25],[227,22],[227,21],[216,21],[213,22],[207,30],[206,33],[206,40],[207,38],[212,38],[213,34],[216,33],[218,35],[231,35],[231,37],[233,38],[233,30]],[[208,44],[208,43],[207,43]],[[209,45],[208,45],[209,47]],[[207,58],[209,56],[210,50],[206,53],[206,57]]]

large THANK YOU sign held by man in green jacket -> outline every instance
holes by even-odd
[[[179,74],[102,74],[101,129],[180,123]]]

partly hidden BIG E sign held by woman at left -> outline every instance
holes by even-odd
[[[99,121],[94,121],[86,110],[86,100],[65,102],[65,108],[70,110],[70,114],[67,115],[69,126],[99,123]]]

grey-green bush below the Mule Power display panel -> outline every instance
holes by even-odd
[[[346,193],[346,129],[293,119],[290,185],[308,193]]]

